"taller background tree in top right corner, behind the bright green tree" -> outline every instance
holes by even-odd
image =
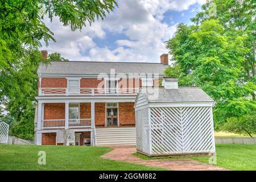
[[[200,24],[204,20],[212,18],[208,15],[210,3],[216,4],[217,18],[222,26],[225,27],[225,33],[227,35],[233,37],[246,35],[246,38],[243,40],[243,46],[247,49],[247,51],[241,54],[245,59],[243,62],[243,68],[245,69],[243,77],[245,81],[251,81],[255,83],[256,2],[254,0],[208,1],[205,3],[205,5],[202,6],[203,11],[197,13],[195,18],[192,18],[193,22]],[[254,92],[251,93],[251,96],[253,97],[253,100],[256,100]]]

